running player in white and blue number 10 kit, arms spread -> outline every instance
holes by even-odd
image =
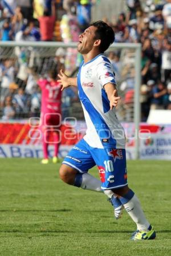
[[[124,207],[137,225],[131,239],[154,239],[156,233],[127,183],[125,134],[115,113],[120,98],[112,65],[103,54],[114,39],[115,34],[107,23],[92,23],[79,36],[78,51],[84,61],[78,77],[68,78],[62,70],[58,75],[62,90],[68,86],[78,87],[87,123],[86,135],[65,157],[59,173],[70,185],[100,191],[99,181],[87,173],[97,165],[101,189],[110,198],[118,217]]]

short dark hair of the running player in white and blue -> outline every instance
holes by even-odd
[[[90,26],[97,28],[95,38],[101,40],[100,51],[104,52],[115,41],[115,32],[104,21],[92,22]]]

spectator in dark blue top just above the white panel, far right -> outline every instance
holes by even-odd
[[[152,98],[150,101],[150,109],[164,109],[164,96],[167,89],[161,81],[152,88]]]

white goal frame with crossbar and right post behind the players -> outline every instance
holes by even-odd
[[[11,58],[11,56],[15,55],[15,48],[25,47],[30,49],[31,51],[35,51],[35,59],[36,53],[39,52],[38,59],[41,58],[51,58],[55,55],[56,49],[59,47],[64,48],[66,52],[68,48],[72,48],[76,50],[77,43],[63,43],[63,42],[0,42],[0,62],[5,58]],[[139,127],[140,127],[140,117],[141,117],[141,103],[140,103],[140,86],[141,86],[141,44],[140,43],[113,43],[107,50],[116,51],[119,50],[123,52],[124,50],[133,52],[133,66],[134,66],[134,94],[133,94],[133,104],[131,106],[131,121],[135,125],[135,159],[139,159],[140,155],[140,141],[139,141]],[[30,58],[28,56],[28,58]],[[15,55],[15,60],[17,57]],[[29,60],[30,61],[30,60]],[[37,60],[38,62],[38,60]],[[123,63],[124,64],[124,63]],[[72,65],[73,66],[73,65]],[[76,63],[75,63],[76,67]],[[40,67],[41,69],[41,67]],[[43,72],[43,71],[42,71]],[[123,78],[124,80],[124,78]],[[122,95],[121,95],[122,96]],[[77,109],[77,108],[76,108]],[[124,116],[124,115],[123,115]],[[123,120],[121,120],[123,121]],[[127,121],[127,120],[125,120]]]

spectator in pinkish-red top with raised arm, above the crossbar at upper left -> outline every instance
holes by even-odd
[[[40,35],[42,41],[52,41],[54,36],[54,26],[56,19],[56,7],[54,0],[52,0],[51,5],[51,13],[48,9],[44,9],[43,16],[38,16]]]

